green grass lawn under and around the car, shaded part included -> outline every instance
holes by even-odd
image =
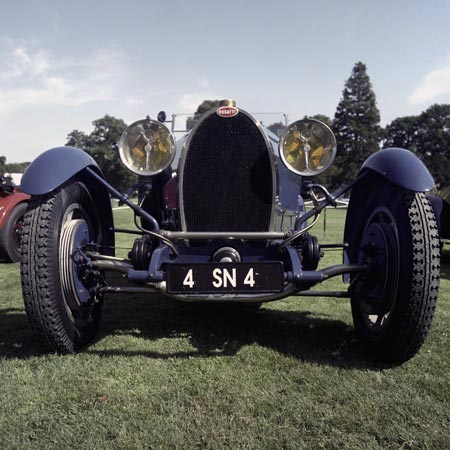
[[[327,212],[325,241],[342,239],[344,214]],[[129,212],[116,219],[123,226]],[[316,234],[324,242],[320,223]],[[118,238],[124,255],[130,239]],[[92,346],[45,354],[18,266],[1,264],[0,448],[450,448],[449,262],[446,251],[430,336],[398,367],[361,348],[348,300],[325,298],[251,313],[111,296]]]

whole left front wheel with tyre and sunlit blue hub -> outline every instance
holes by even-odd
[[[82,183],[30,200],[22,234],[22,291],[31,325],[48,350],[77,352],[98,331],[98,280],[76,259],[87,245],[101,247],[99,230],[94,202]]]

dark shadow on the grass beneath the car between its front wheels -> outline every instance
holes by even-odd
[[[134,336],[153,341],[149,350],[98,349],[102,338]],[[159,339],[188,340],[188,349],[161,350]],[[101,356],[192,358],[233,356],[257,344],[318,364],[380,370],[347,323],[311,311],[280,311],[264,305],[258,311],[242,304],[185,304],[157,294],[127,295],[107,302],[99,345],[87,351]],[[154,350],[157,348],[156,350]],[[168,346],[172,348],[172,346]]]

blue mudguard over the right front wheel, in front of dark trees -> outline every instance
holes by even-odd
[[[410,191],[427,192],[435,184],[425,164],[403,148],[387,148],[374,153],[363,164],[361,170],[365,169],[373,170]]]

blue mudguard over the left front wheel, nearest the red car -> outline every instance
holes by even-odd
[[[22,177],[22,190],[30,195],[53,191],[86,167],[101,173],[95,160],[75,147],[56,147],[39,155]]]

